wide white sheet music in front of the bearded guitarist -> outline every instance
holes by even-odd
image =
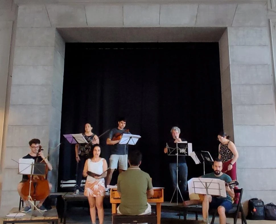
[[[191,178],[187,182],[189,194],[206,194],[205,183],[209,195],[226,197],[225,181],[216,178]]]

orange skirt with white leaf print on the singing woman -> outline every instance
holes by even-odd
[[[96,180],[94,182],[85,182],[84,195],[87,197],[104,196],[105,186],[104,180]]]

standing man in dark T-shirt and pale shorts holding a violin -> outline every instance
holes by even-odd
[[[128,148],[126,144],[118,144],[120,142],[120,136],[123,133],[130,134],[125,130],[126,119],[121,117],[118,119],[118,127],[110,131],[106,144],[111,146],[111,155],[109,158],[109,170],[106,178],[106,184],[109,185],[112,179],[112,174],[119,166],[119,173],[127,170],[127,153]],[[118,140],[112,140],[114,137],[119,137]],[[119,164],[119,165],[118,165]]]

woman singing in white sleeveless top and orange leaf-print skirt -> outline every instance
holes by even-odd
[[[86,160],[83,169],[83,176],[87,177],[84,188],[84,195],[88,198],[92,224],[96,223],[96,207],[98,210],[100,224],[102,224],[104,221],[104,178],[106,177],[106,172],[104,171],[107,170],[107,162],[104,158],[100,157],[100,153],[100,145],[95,144],[88,154],[88,159]],[[92,172],[93,174],[88,172],[88,175],[87,171]],[[94,174],[98,174],[100,176],[94,176]]]

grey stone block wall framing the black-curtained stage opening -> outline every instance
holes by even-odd
[[[263,3],[20,5],[5,160],[26,154],[34,137],[50,152],[59,143],[64,41],[56,27],[227,27],[219,42],[223,119],[240,154],[238,179],[244,200],[275,203],[275,92],[266,15]],[[57,154],[50,153],[55,167]],[[16,164],[5,168],[2,196],[9,196],[1,204],[17,206],[16,188],[9,187],[20,179]]]

